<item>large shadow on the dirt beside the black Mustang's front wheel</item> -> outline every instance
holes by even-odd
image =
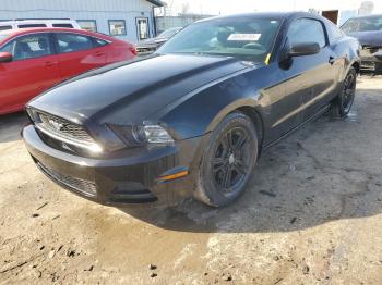
[[[307,124],[262,153],[244,195],[229,207],[189,199],[167,209],[120,210],[155,226],[195,233],[289,232],[379,214],[382,175],[356,145],[358,128],[357,110],[346,120],[324,115]],[[351,147],[359,149],[349,157]]]

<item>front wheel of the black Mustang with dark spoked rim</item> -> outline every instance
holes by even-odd
[[[195,197],[212,207],[234,202],[244,190],[258,159],[258,135],[241,112],[227,115],[212,133],[198,175]]]

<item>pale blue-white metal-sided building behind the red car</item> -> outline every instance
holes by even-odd
[[[0,20],[71,18],[84,29],[131,42],[154,37],[159,0],[1,0]]]

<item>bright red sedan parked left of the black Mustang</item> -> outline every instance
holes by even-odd
[[[129,42],[82,29],[0,32],[0,114],[23,110],[33,97],[69,77],[135,55]]]

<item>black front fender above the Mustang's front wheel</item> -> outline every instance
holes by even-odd
[[[160,121],[174,129],[177,139],[203,136],[234,110],[258,107],[259,96],[250,76],[242,74],[183,99]]]

